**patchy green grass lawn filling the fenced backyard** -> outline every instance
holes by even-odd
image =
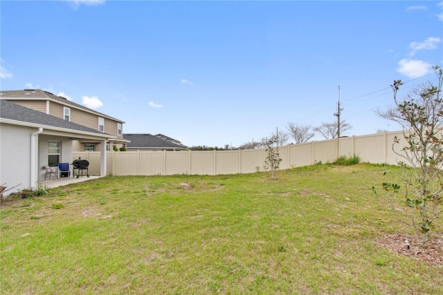
[[[442,265],[376,242],[411,231],[372,193],[386,169],[105,177],[10,198],[0,292],[443,294]]]

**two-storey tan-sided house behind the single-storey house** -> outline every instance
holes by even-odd
[[[123,123],[125,122],[78,105],[61,96],[55,96],[51,92],[40,89],[1,91],[0,98],[1,100],[9,100],[17,105],[35,109],[44,114],[77,123],[102,133],[111,134],[114,138],[107,142],[106,150],[112,149],[113,145],[123,147],[127,143],[123,139]],[[100,141],[93,141],[91,139],[73,141],[73,150],[98,151],[101,150]]]

